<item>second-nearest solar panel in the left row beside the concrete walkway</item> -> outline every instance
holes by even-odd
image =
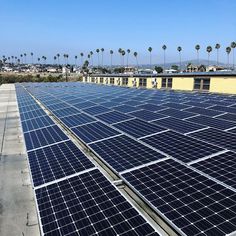
[[[30,151],[28,159],[34,186],[94,167],[72,141]]]

